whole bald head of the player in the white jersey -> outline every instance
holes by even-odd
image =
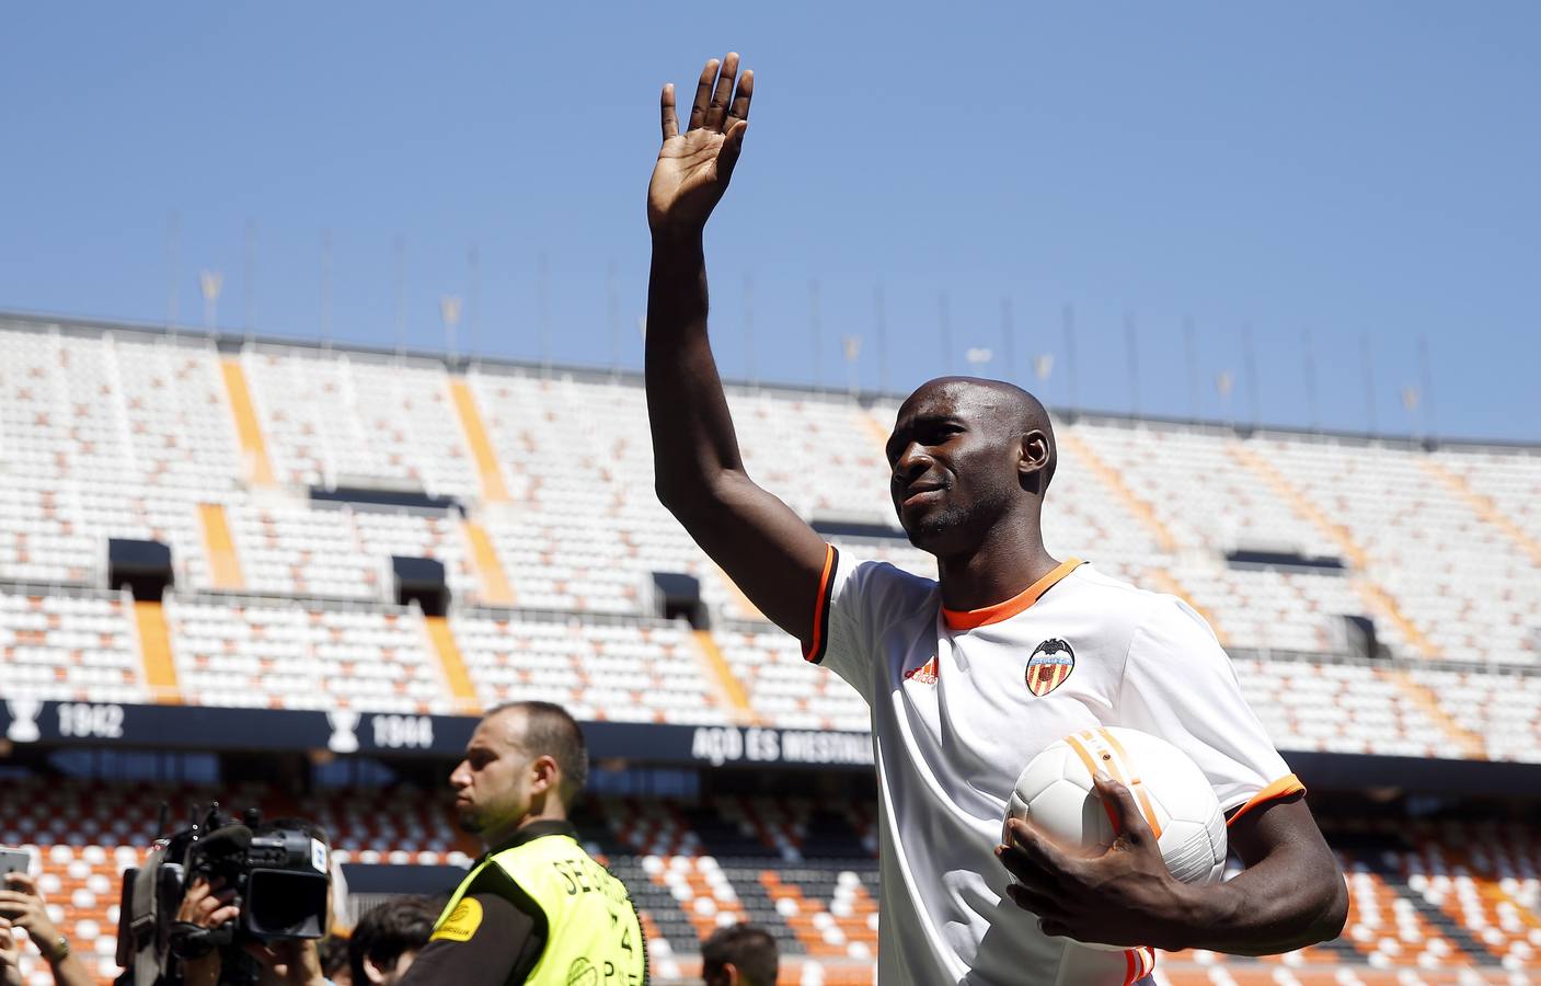
[[[945,376],[922,384],[888,439],[889,493],[909,541],[937,556],[972,552],[997,524],[1037,516],[1054,478],[1054,427],[1014,384]]]

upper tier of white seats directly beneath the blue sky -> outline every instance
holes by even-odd
[[[296,496],[361,485],[468,504],[492,545],[481,564],[522,605],[640,613],[647,573],[673,570],[724,616],[757,616],[653,498],[635,381],[267,344],[222,354],[203,337],[23,320],[0,324],[0,578],[100,584],[105,538],[129,536],[171,544],[183,585],[228,587],[199,521],[216,504],[248,590],[379,598],[388,542],[482,595],[453,522],[381,521],[371,536]],[[892,524],[892,405],[770,388],[730,388],[729,404],[750,475],[801,516]],[[1086,418],[1059,434],[1049,548],[1188,596],[1233,646],[1331,650],[1341,618],[1365,615],[1404,658],[1541,653],[1535,450]],[[1342,568],[1227,562],[1259,550]]]

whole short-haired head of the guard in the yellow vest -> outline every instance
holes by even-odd
[[[461,829],[496,846],[532,821],[567,818],[589,780],[589,747],[567,710],[510,703],[488,712],[450,775]]]

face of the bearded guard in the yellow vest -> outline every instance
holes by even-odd
[[[518,712],[488,716],[465,744],[465,758],[450,775],[461,829],[493,843],[510,835],[530,810],[530,763],[519,738]]]

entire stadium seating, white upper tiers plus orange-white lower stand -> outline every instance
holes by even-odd
[[[450,715],[539,698],[592,723],[866,729],[857,695],[807,669],[658,505],[635,377],[35,319],[0,319],[0,348],[6,701]],[[892,530],[892,401],[729,397],[758,481],[843,552],[932,570]],[[1541,763],[1535,448],[1057,427],[1049,547],[1210,618],[1281,749]],[[163,602],[109,587],[108,538],[170,545]],[[444,564],[445,618],[399,604],[391,556]],[[660,618],[655,573],[700,581],[698,625]],[[1368,618],[1373,653],[1351,653],[1345,618]],[[0,844],[37,847],[106,977],[116,877],[156,804],[216,792],[100,787],[0,784]],[[310,813],[354,864],[475,854],[424,789],[217,797]],[[636,890],[663,978],[747,918],[792,981],[868,983],[872,810],[606,795],[582,827]],[[1157,981],[1465,986],[1536,968],[1533,830],[1330,835],[1355,897],[1342,940],[1257,963],[1170,955]]]

